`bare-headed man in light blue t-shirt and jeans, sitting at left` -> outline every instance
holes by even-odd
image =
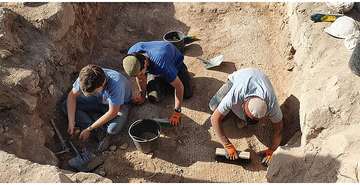
[[[120,132],[126,123],[131,98],[125,76],[97,65],[85,66],[63,103],[69,120],[67,131],[72,135],[75,125],[81,127],[79,140],[83,142],[94,131],[98,151],[105,151],[110,145],[109,134]],[[97,114],[91,118],[88,113]]]

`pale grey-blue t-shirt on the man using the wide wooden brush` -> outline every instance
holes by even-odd
[[[233,82],[233,87],[218,106],[222,115],[233,111],[239,118],[244,119],[242,105],[245,105],[250,97],[257,96],[268,105],[267,115],[273,123],[282,120],[273,85],[265,74],[254,68],[245,68],[233,72],[228,79]]]

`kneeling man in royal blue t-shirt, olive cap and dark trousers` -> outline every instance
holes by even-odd
[[[133,105],[148,100],[157,103],[165,96],[166,89],[175,89],[175,107],[170,124],[181,123],[181,105],[184,98],[193,94],[192,79],[184,56],[167,41],[139,42],[133,45],[123,60],[125,72],[135,76],[140,96],[131,99]],[[173,88],[172,88],[173,87]]]

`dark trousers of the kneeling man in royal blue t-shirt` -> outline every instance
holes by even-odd
[[[183,63],[179,72],[177,73],[180,81],[184,86],[184,95],[183,97],[188,99],[193,94],[193,82],[189,74],[188,67]],[[148,100],[157,103],[164,98],[166,89],[174,89],[171,84],[164,78],[154,74],[148,74]]]

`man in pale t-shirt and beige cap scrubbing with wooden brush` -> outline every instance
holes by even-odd
[[[241,69],[230,74],[228,81],[212,97],[209,107],[214,111],[211,117],[212,126],[230,159],[236,159],[237,154],[221,123],[225,115],[233,111],[244,121],[244,127],[255,125],[269,116],[273,122],[273,142],[270,148],[260,153],[263,157],[262,165],[269,165],[273,152],[280,145],[283,125],[282,112],[273,85],[265,74],[254,68]]]

